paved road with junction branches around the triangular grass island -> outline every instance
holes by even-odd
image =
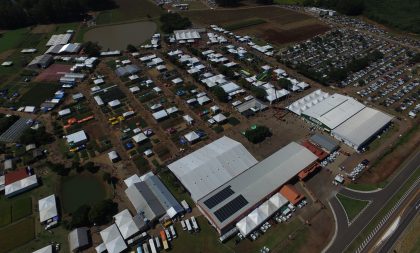
[[[341,189],[339,191],[340,194],[356,199],[370,200],[371,203],[355,221],[349,224],[347,215],[337,198],[334,197],[330,200],[331,207],[335,213],[337,231],[336,236],[333,238],[334,241],[327,246],[328,248],[324,249],[324,251],[328,253],[343,252],[363,228],[369,224],[375,215],[386,205],[391,196],[398,192],[399,188],[404,185],[419,164],[420,151],[416,151],[410,156],[405,164],[403,164],[403,168],[400,170],[399,174],[397,174],[387,187],[381,191],[363,193],[345,188]]]

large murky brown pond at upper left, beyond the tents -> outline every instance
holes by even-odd
[[[87,31],[84,40],[98,42],[103,50],[125,50],[128,44],[138,46],[150,40],[156,28],[149,21],[102,26]]]

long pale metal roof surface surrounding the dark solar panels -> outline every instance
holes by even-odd
[[[259,201],[270,195],[317,159],[316,155],[302,145],[291,142],[200,199],[198,205],[214,221],[214,225],[222,229],[236,221],[244,212],[255,206]],[[210,208],[205,204],[206,200],[227,187],[230,187],[234,193]],[[246,203],[236,212],[219,220],[215,213],[241,196],[246,200]],[[261,217],[255,217],[254,222],[259,218]]]

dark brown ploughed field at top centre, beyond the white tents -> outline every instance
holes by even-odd
[[[231,27],[238,34],[252,35],[277,45],[305,40],[329,30],[316,18],[280,7],[190,11],[185,16],[195,24]],[[245,22],[247,20],[258,22]]]

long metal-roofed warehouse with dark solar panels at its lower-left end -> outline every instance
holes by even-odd
[[[197,205],[223,234],[316,160],[317,156],[292,142],[201,198]]]

